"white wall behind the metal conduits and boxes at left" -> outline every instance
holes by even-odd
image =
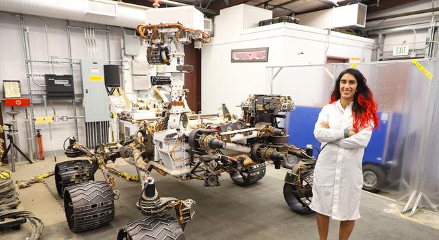
[[[62,56],[68,57],[68,47],[67,47],[67,27],[66,21],[60,19],[49,19],[43,18],[47,23],[48,35],[49,35],[49,54],[51,56]],[[29,27],[30,32],[30,47],[33,60],[47,60],[46,44],[45,44],[45,30],[44,25],[38,19],[31,17],[24,17],[25,27]],[[71,22],[71,25],[83,26],[84,23]],[[95,25],[97,28],[105,29],[103,25]],[[126,29],[127,34],[133,34],[133,30]],[[110,27],[110,58],[111,60],[121,59],[121,38],[123,36],[122,29],[120,27]],[[96,32],[95,38],[97,40],[97,47],[99,49],[99,59],[107,60],[107,45],[106,45],[106,34],[105,32]],[[86,45],[84,40],[84,30],[82,29],[71,29],[71,49],[73,59],[88,58]],[[21,94],[23,97],[28,94],[27,91],[27,80],[25,75],[25,62],[23,56],[23,41],[22,41],[22,31],[20,20],[18,16],[10,16],[5,14],[0,14],[0,80],[20,80],[21,82]],[[112,62],[112,64],[121,64],[121,62]],[[70,67],[67,64],[55,64],[54,73],[58,74],[71,74]],[[34,64],[34,73],[45,74],[49,73],[49,67],[47,64]],[[130,75],[128,75],[129,77]],[[82,80],[80,74],[80,66],[73,66],[73,79],[75,86],[75,94],[82,95]],[[44,84],[44,77],[35,77],[36,82]],[[126,82],[130,82],[130,78],[124,77]],[[0,86],[3,92],[3,85]],[[32,88],[36,90],[43,90],[44,87],[36,86],[32,83]],[[128,92],[133,91],[128,89]],[[35,116],[44,116],[45,110],[43,106],[42,95],[44,92],[37,92],[38,96],[34,97],[34,113]],[[3,93],[1,93],[3,96]],[[133,97],[133,95],[132,95]],[[54,101],[54,107],[56,109],[56,115],[58,116],[73,116],[73,106],[71,103],[66,101]],[[3,122],[8,123],[11,117],[5,112],[10,111],[9,107],[5,107],[1,104],[3,112]],[[24,108],[14,108],[20,113],[17,115],[19,123],[19,139],[20,147],[24,152],[27,152],[26,136],[25,136],[25,125],[24,120]],[[78,115],[84,115],[84,108],[82,107],[82,102],[77,103]],[[51,107],[48,106],[48,115],[54,115]],[[84,119],[78,119],[79,137],[80,141],[85,143],[85,127]],[[55,149],[62,149],[62,141],[68,136],[74,136],[74,123],[73,120],[67,122],[53,123],[53,139]],[[43,134],[43,147],[45,152],[51,151],[51,143],[49,141],[49,128],[47,124],[36,125],[36,128],[41,129]],[[48,153],[50,155],[50,153]]]

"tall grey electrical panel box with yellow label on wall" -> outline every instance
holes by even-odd
[[[82,91],[85,121],[110,121],[110,101],[104,82],[104,63],[97,60],[81,60]]]

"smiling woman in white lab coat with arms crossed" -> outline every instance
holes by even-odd
[[[320,239],[327,239],[329,217],[340,220],[339,239],[348,239],[359,219],[361,162],[379,119],[366,78],[356,69],[340,73],[331,103],[322,108],[314,136],[322,152],[314,169],[313,200]]]

